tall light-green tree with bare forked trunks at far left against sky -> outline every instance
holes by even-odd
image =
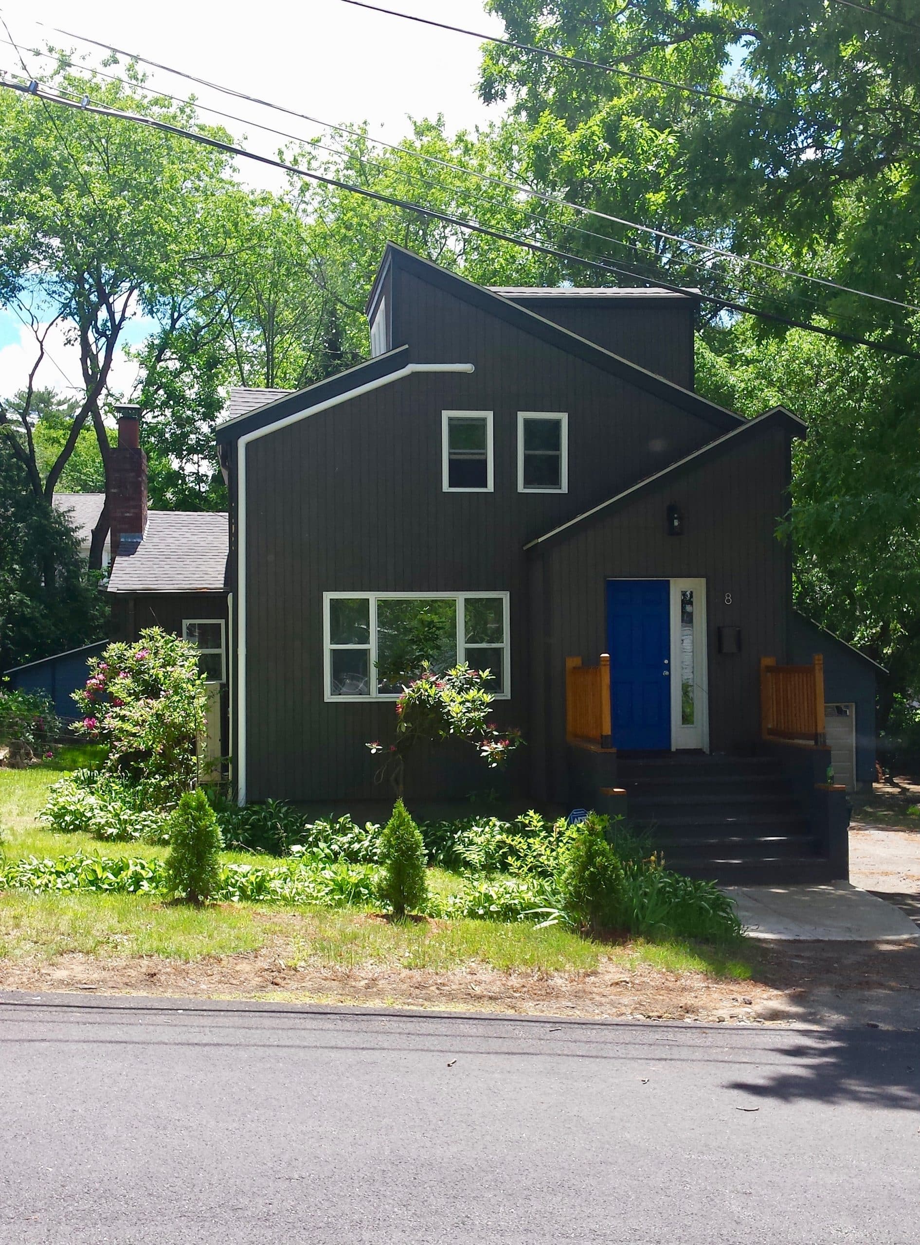
[[[61,59],[45,85],[173,125],[199,125],[192,106],[147,95],[132,66],[123,80],[103,81]],[[29,430],[35,369],[24,386],[22,437],[11,441],[47,504],[87,426],[107,474],[103,411],[126,325],[146,315],[177,329],[197,305],[209,278],[202,256],[210,254],[215,204],[232,188],[228,171],[222,152],[172,134],[41,98],[0,96],[0,304],[27,314],[36,366],[55,325],[80,351],[83,392],[44,478]],[[101,565],[107,530],[105,507],[92,534],[93,566]]]

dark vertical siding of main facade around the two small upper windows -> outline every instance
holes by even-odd
[[[720,435],[406,273],[395,271],[395,344],[408,342],[420,361],[473,362],[477,370],[397,381],[249,444],[250,799],[377,793],[365,745],[392,738],[393,703],[324,701],[324,591],[508,591],[512,700],[497,702],[495,720],[519,726],[528,741],[508,782],[535,791],[553,751],[544,740],[550,710],[542,684],[555,675],[556,650],[544,639],[544,611],[545,625],[563,632],[558,589],[529,581],[524,544]],[[494,411],[494,493],[442,492],[442,410]],[[519,410],[569,412],[566,494],[518,493]],[[777,513],[771,497],[763,530]],[[591,561],[580,543],[573,549],[569,583],[571,590],[580,585],[580,604],[569,606],[585,610],[596,595],[590,609],[603,615],[603,580],[616,571],[601,550]],[[649,559],[654,553],[651,542]],[[758,544],[751,555],[769,560],[772,552]],[[594,639],[585,654],[593,647]],[[448,769],[438,754],[427,788],[416,786],[416,794],[463,796],[491,786],[493,773],[472,756],[468,762]]]

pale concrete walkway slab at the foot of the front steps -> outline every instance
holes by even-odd
[[[822,942],[920,940],[920,930],[905,913],[848,881],[722,889],[738,905],[751,937]]]

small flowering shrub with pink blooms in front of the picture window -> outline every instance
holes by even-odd
[[[439,743],[464,740],[487,766],[500,768],[524,742],[518,730],[499,730],[489,721],[494,696],[487,690],[488,670],[471,670],[463,662],[443,675],[423,669],[396,702],[396,740],[388,747],[367,745],[382,761],[375,782],[388,779],[396,796],[403,791],[406,757],[421,740]]]

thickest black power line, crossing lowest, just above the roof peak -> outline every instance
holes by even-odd
[[[142,113],[124,112],[118,108],[108,108],[101,105],[93,105],[88,102],[77,102],[75,100],[67,100],[60,95],[50,95],[41,91],[36,82],[30,82],[29,85],[19,85],[16,82],[4,82],[0,81],[0,87],[9,91],[16,91],[25,96],[39,97],[46,100],[50,103],[55,103],[60,107],[71,108],[82,112],[90,112],[96,116],[110,117],[120,121],[132,121],[136,125],[144,126],[149,129],[157,129],[163,133],[173,134],[174,137],[187,138],[190,142],[202,143],[203,146],[210,147],[215,151],[222,151],[228,156],[242,157],[243,159],[250,159],[260,164],[266,164],[273,168],[283,169],[295,177],[304,178],[306,181],[316,182],[321,186],[329,186],[335,189],[346,190],[351,194],[361,195],[362,198],[376,200],[378,203],[387,203],[391,207],[400,208],[405,212],[413,212],[418,215],[428,217],[432,220],[441,220],[446,224],[457,227],[458,229],[469,230],[471,233],[482,234],[487,238],[493,238],[498,242],[507,242],[512,245],[522,247],[534,254],[549,255],[554,259],[563,259],[570,263],[581,264],[586,268],[596,269],[605,273],[617,273],[619,275],[630,276],[637,280],[642,280],[649,285],[654,285],[659,289],[671,290],[675,294],[681,294],[685,298],[688,296],[687,291],[680,285],[675,285],[661,279],[654,279],[645,276],[641,273],[636,273],[631,269],[624,268],[619,264],[613,264],[609,260],[594,260],[586,259],[584,255],[576,255],[571,251],[560,250],[555,247],[548,247],[543,243],[532,242],[525,238],[519,238],[515,234],[505,233],[500,229],[493,229],[488,225],[482,225],[471,220],[463,220],[459,217],[451,215],[446,212],[437,212],[433,208],[425,208],[418,203],[412,203],[408,199],[401,199],[395,195],[383,194],[380,190],[371,190],[368,187],[354,186],[350,182],[344,182],[340,178],[329,177],[322,173],[317,173],[314,169],[304,169],[296,164],[289,164],[280,159],[274,159],[270,156],[263,156],[259,152],[249,152],[244,147],[239,147],[234,143],[225,143],[219,138],[213,138],[209,134],[197,133],[194,131],[183,129],[181,126],[173,126],[166,121],[158,121],[154,117],[146,117]],[[873,350],[881,350],[885,354],[898,355],[900,357],[911,359],[920,362],[920,355],[915,355],[911,351],[901,350],[899,346],[891,346],[888,342],[873,341],[868,337],[859,337],[853,334],[839,332],[835,329],[828,329],[823,325],[809,324],[803,320],[794,320],[789,316],[779,315],[773,311],[764,311],[759,308],[751,308],[743,303],[735,303],[730,299],[717,298],[710,294],[695,294],[693,298],[698,298],[702,303],[710,303],[718,308],[737,311],[741,315],[752,315],[758,319],[768,320],[774,324],[783,324],[793,329],[803,329],[807,332],[815,332],[824,337],[833,337],[838,341],[845,341],[850,345],[868,346]]]

